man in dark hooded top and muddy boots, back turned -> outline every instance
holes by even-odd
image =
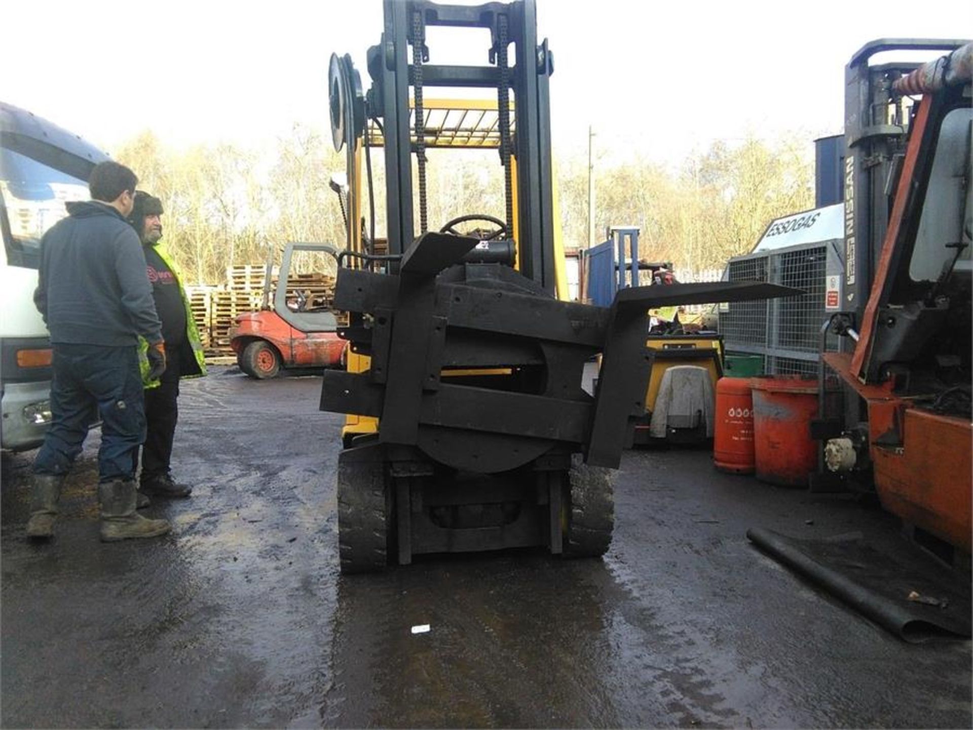
[[[89,179],[91,201],[67,203],[69,216],[41,238],[34,303],[54,349],[53,419],[34,460],[29,537],[53,536],[61,485],[81,453],[95,411],[101,420],[101,539],[169,531],[165,520],[135,513],[135,456],[145,439],[139,335],[149,343],[156,377],[165,369],[145,256],[126,222],[137,182],[123,164],[96,165]]]

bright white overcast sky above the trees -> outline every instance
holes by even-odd
[[[842,130],[844,66],[879,37],[973,36],[969,0],[537,0],[555,53],[561,152],[596,145],[678,162],[713,139]],[[934,9],[934,12],[931,12]],[[332,52],[365,52],[380,0],[0,0],[0,99],[113,152],[163,142],[267,143],[295,124],[329,132]],[[486,63],[488,34],[429,38],[431,62]],[[427,92],[429,95],[429,92]]]

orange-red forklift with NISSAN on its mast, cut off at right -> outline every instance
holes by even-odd
[[[952,53],[869,63],[902,50]],[[965,41],[874,41],[847,66],[843,311],[822,329],[812,424],[812,489],[874,485],[955,566],[971,542],[971,69]]]

